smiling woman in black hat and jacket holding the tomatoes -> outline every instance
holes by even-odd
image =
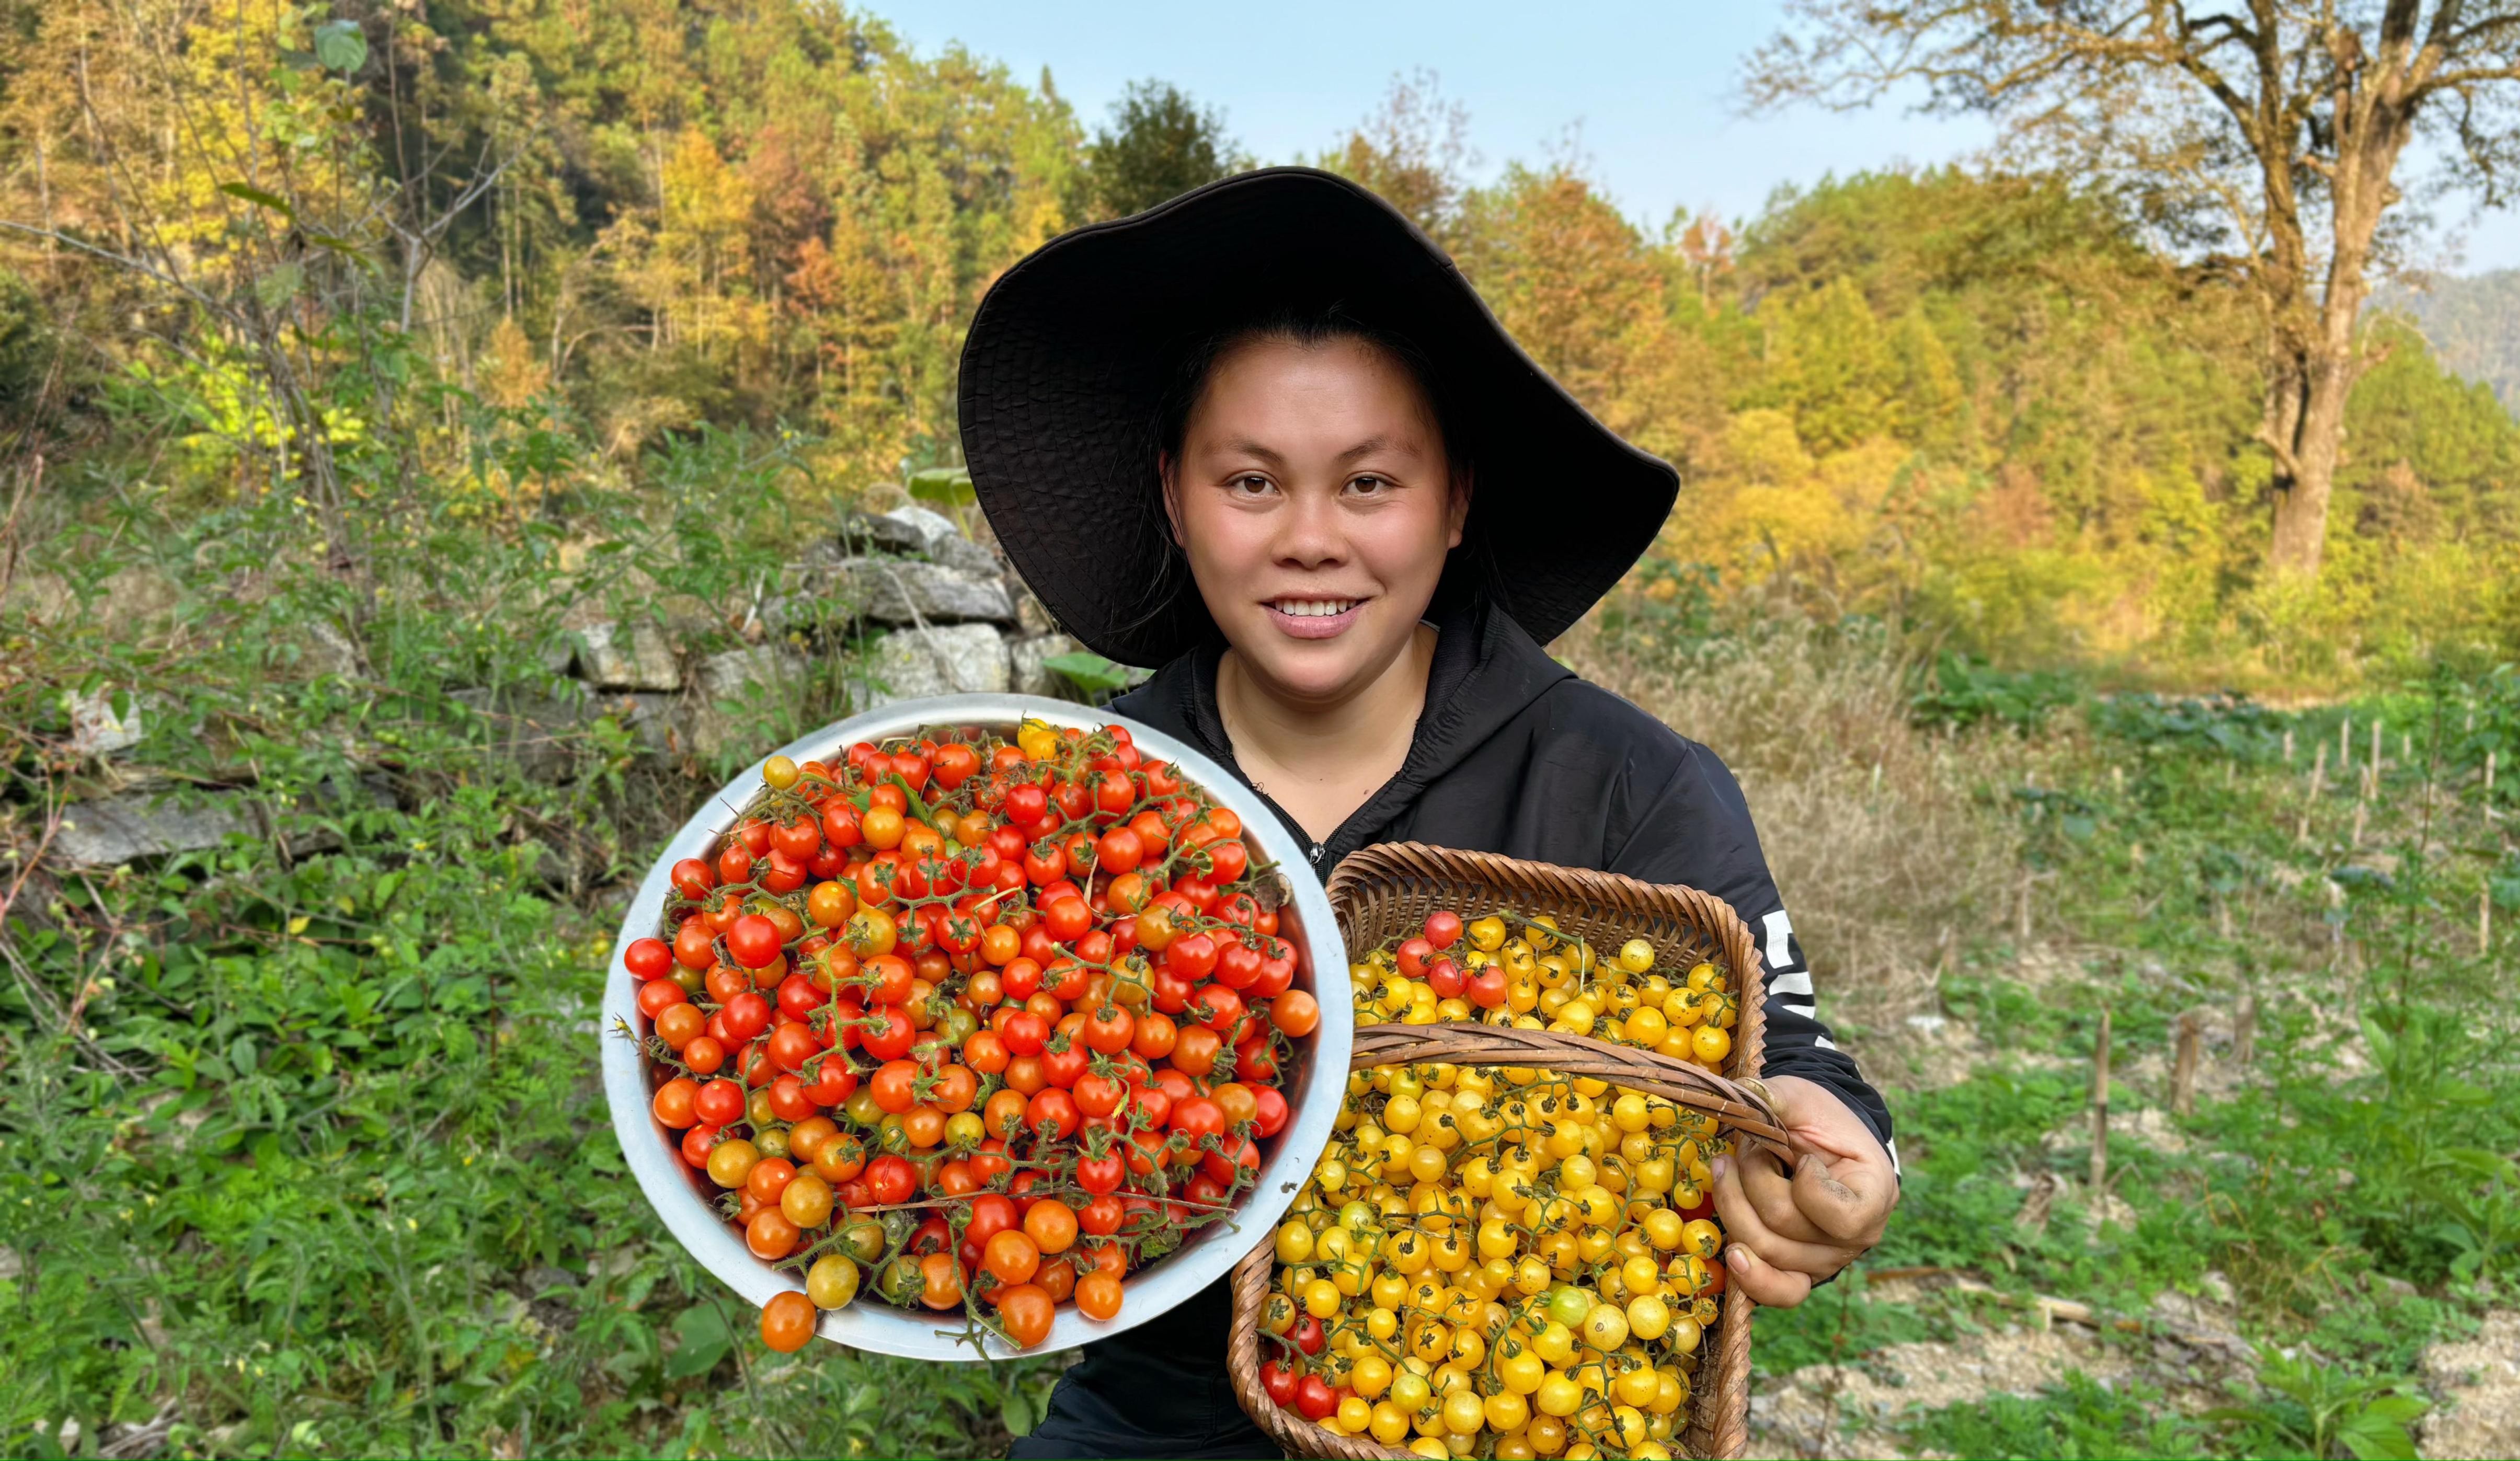
[[[1688,884],[1767,955],[1799,1164],[1716,1164],[1731,1282],[1797,1305],[1898,1199],[1890,1116],[1812,1018],[1741,788],[1542,645],[1653,542],[1678,476],[1598,426],[1373,194],[1270,169],[1016,264],[963,353],[998,542],[1119,710],[1242,776],[1328,877],[1431,841]],[[1016,1456],[1275,1456],[1230,1300],[1086,1348]]]

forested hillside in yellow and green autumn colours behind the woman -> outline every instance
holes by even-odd
[[[1048,76],[804,0],[13,0],[5,28],[20,453],[202,501],[355,456],[388,408],[416,431],[396,471],[464,461],[456,398],[605,481],[701,426],[794,433],[827,496],[945,466],[988,282],[1240,161],[1169,88],[1079,118]],[[1469,186],[1444,121],[1401,88],[1310,161],[1409,207],[1542,365],[1686,466],[1666,557],[1716,597],[2132,680],[2316,688],[2520,647],[2520,428],[2412,330],[2369,325],[2394,340],[2354,395],[2326,572],[2278,589],[2250,307],[2097,189],[1847,176],[1643,227],[1562,164]],[[381,343],[431,408],[315,401]],[[499,491],[564,474],[529,476]]]

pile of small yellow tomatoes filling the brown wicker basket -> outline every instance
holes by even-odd
[[[1436,912],[1351,967],[1356,1023],[1484,1020],[1716,1068],[1739,998],[1648,940]],[[1383,1066],[1278,1229],[1268,1396],[1419,1456],[1671,1456],[1724,1292],[1709,1116],[1585,1076]]]

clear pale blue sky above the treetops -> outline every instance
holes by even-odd
[[[874,0],[922,53],[950,40],[1031,81],[1046,65],[1086,123],[1121,86],[1162,78],[1225,108],[1260,161],[1300,161],[1376,108],[1396,73],[1431,68],[1469,108],[1479,176],[1572,146],[1638,222],[1676,207],[1756,212],[1779,184],[1895,161],[1945,161],[1986,144],[1976,121],[1898,108],[1797,108],[1744,121],[1736,71],[1774,25],[1754,0],[1502,5],[1497,0]],[[2457,224],[2460,219],[2444,219]],[[2434,239],[2432,257],[2444,257]],[[2520,267],[2520,217],[2487,214],[2462,270]]]

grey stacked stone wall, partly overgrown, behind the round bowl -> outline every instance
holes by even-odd
[[[567,773],[572,746],[602,715],[655,756],[706,763],[721,753],[766,753],[769,746],[746,743],[748,730],[723,705],[799,688],[814,657],[844,652],[842,640],[857,645],[847,662],[852,713],[958,693],[1076,698],[1046,660],[1081,645],[1051,625],[995,552],[925,506],[849,514],[801,554],[748,630],[756,642],[711,650],[678,642],[655,620],[577,625],[547,660],[554,670],[547,688],[454,690],[454,698],[484,718],[494,753],[527,776]],[[285,839],[302,821],[252,788],[174,796],[146,771],[116,771],[149,738],[144,703],[73,695],[68,713],[73,748],[108,761],[106,783],[123,788],[63,809],[45,854],[55,864],[113,867],[217,846],[229,834]],[[333,804],[386,796],[373,786],[328,791]]]

